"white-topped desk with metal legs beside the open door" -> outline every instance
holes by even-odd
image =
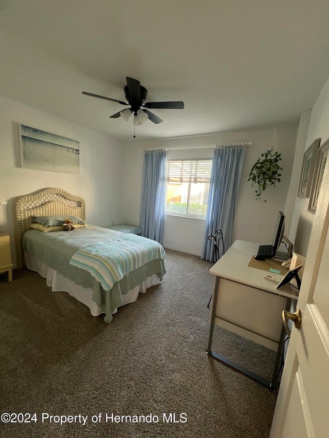
[[[210,269],[214,277],[208,355],[242,371],[249,377],[275,389],[285,331],[282,311],[290,310],[291,299],[298,298],[297,289],[266,280],[266,271],[251,268],[248,263],[258,252],[258,243],[236,240]],[[273,274],[283,278],[283,275]],[[269,381],[230,359],[211,350],[214,325],[277,352],[272,379]]]

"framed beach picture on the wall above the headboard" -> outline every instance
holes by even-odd
[[[77,140],[19,124],[22,167],[51,172],[80,173]]]

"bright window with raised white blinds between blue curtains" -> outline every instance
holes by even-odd
[[[168,160],[166,213],[205,218],[212,160]]]

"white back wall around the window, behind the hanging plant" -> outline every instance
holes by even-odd
[[[274,128],[274,127],[273,127]],[[125,148],[125,191],[126,200],[123,217],[127,223],[138,224],[141,199],[141,180],[143,151],[141,148],[152,146],[183,147],[193,145],[209,145],[227,141],[252,141],[246,147],[245,160],[233,225],[233,241],[236,239],[271,243],[278,211],[285,210],[290,172],[296,146],[297,126],[278,127],[278,150],[282,152],[281,162],[284,171],[275,188],[265,192],[266,202],[256,200],[255,187],[248,182],[250,169],[261,153],[266,151],[273,135],[273,128],[247,132],[227,132],[208,136],[194,136],[177,139],[166,139],[142,142],[135,140]],[[208,158],[212,157],[212,148],[185,149],[167,152],[168,158]],[[290,222],[287,218],[286,231]],[[205,221],[199,219],[166,216],[163,246],[200,255],[204,242]]]

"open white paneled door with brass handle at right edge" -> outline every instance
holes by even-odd
[[[310,237],[270,438],[329,437],[329,165]]]

